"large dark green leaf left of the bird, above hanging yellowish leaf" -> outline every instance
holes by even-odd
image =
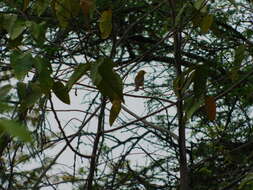
[[[91,77],[99,91],[109,97],[110,101],[123,99],[123,85],[120,76],[113,70],[113,63],[109,58],[100,58],[91,65]]]

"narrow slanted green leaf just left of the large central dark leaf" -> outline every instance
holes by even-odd
[[[74,73],[69,78],[69,81],[67,83],[67,88],[70,90],[72,86],[84,75],[87,73],[87,71],[90,70],[90,63],[86,64],[80,64],[75,69]]]

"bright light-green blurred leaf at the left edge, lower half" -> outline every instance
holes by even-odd
[[[32,140],[27,128],[16,121],[0,119],[0,129],[13,137],[19,138],[21,141],[31,142]]]

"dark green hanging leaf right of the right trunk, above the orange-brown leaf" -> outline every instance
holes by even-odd
[[[197,66],[193,77],[193,92],[195,98],[200,98],[206,93],[207,70],[204,65]]]

